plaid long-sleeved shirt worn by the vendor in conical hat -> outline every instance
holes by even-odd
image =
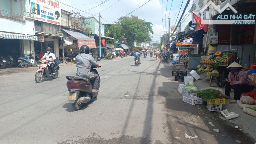
[[[253,82],[251,81],[251,79],[248,77],[247,73],[245,73],[244,70],[238,71],[237,75],[234,75],[234,73],[231,71],[228,74],[228,79],[230,79],[230,85],[232,86],[235,84],[247,84],[253,86]]]

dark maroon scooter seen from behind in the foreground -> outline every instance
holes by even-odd
[[[99,75],[95,68],[92,68],[91,72]],[[92,84],[89,79],[79,76],[66,76],[66,78],[68,79],[66,86],[69,91],[68,103],[72,104],[74,110],[80,110],[83,104],[97,99],[99,92],[92,92]]]

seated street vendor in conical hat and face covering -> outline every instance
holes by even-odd
[[[231,71],[228,74],[228,79],[226,79],[225,98],[230,98],[230,91],[233,88],[234,100],[230,100],[230,103],[233,104],[240,100],[241,93],[252,91],[254,86],[247,73],[243,70],[243,66],[233,62],[227,69]]]

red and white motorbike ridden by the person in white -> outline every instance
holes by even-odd
[[[56,79],[59,74],[60,66],[59,66],[59,60],[58,58],[54,61],[54,68],[53,68],[53,76],[50,76],[51,71],[48,69],[47,65],[49,63],[49,60],[52,59],[52,56],[48,60],[41,60],[41,64],[39,65],[39,69],[36,71],[35,74],[35,80],[36,83],[41,83],[45,78],[53,78]]]

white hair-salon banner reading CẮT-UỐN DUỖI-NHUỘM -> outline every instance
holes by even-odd
[[[61,25],[60,3],[55,0],[30,0],[34,19],[45,23]]]

